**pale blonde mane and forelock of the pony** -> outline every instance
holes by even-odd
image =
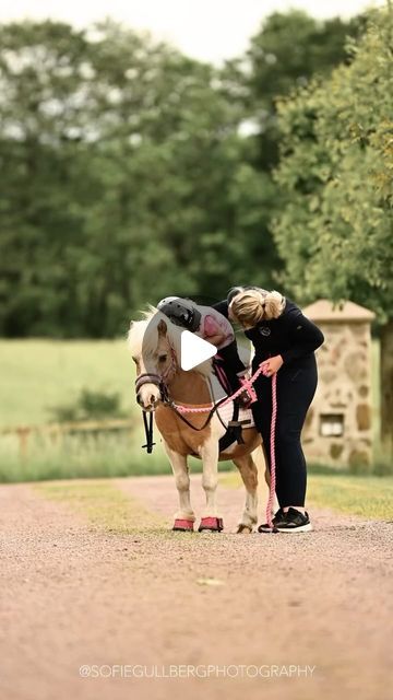
[[[128,347],[134,357],[142,353],[153,357],[158,347],[158,324],[164,320],[167,327],[167,338],[170,347],[174,349],[177,364],[180,366],[180,349],[181,349],[181,331],[182,328],[172,324],[168,316],[163,314],[158,308],[148,306],[148,311],[141,312],[143,318],[132,320],[128,331]],[[212,373],[212,361],[206,360],[195,368],[195,372],[203,376]]]

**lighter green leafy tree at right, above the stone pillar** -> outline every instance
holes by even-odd
[[[279,107],[286,195],[275,238],[302,301],[352,299],[381,324],[382,436],[393,413],[393,16],[373,14],[353,61]]]

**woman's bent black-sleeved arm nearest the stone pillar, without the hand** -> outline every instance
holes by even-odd
[[[324,341],[323,332],[312,320],[303,316],[300,308],[291,308],[286,314],[284,328],[293,342],[289,350],[281,353],[284,364],[310,354]]]

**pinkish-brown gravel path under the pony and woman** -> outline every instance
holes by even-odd
[[[116,483],[171,524],[170,477]],[[0,487],[1,700],[391,698],[392,525],[319,511],[312,534],[235,535],[242,498],[221,487],[221,535],[119,535]],[[158,677],[118,675],[134,665]]]

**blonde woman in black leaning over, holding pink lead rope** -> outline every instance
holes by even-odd
[[[279,510],[273,524],[285,533],[311,530],[305,510],[307,475],[300,434],[317,388],[314,350],[322,345],[323,334],[291,301],[258,287],[237,287],[215,307],[230,320],[238,322],[252,341],[253,372],[262,363],[263,374],[254,384],[258,401],[252,405],[252,411],[269,465],[272,376],[277,373],[275,457]],[[259,530],[270,528],[265,524]]]

